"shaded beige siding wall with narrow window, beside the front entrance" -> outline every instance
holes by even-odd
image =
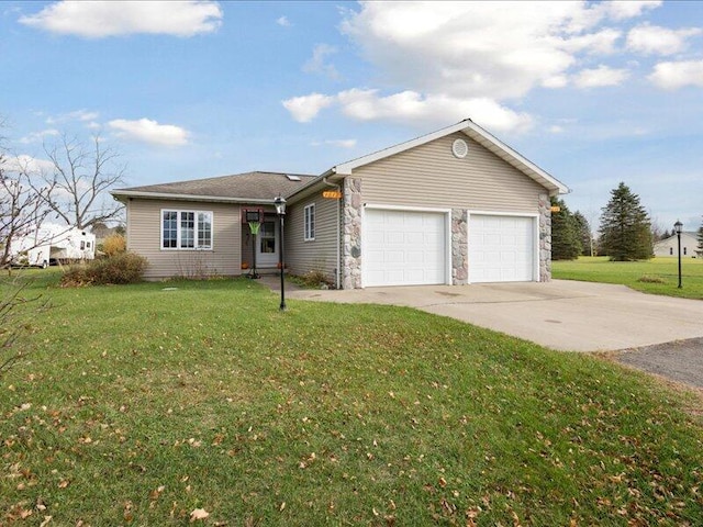
[[[322,271],[334,283],[337,269],[338,200],[322,197],[323,190],[297,202],[286,214],[286,264],[288,272],[305,274]],[[304,210],[315,204],[315,239],[304,240]]]

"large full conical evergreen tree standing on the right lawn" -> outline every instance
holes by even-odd
[[[621,182],[611,191],[611,200],[602,211],[599,228],[602,254],[615,261],[652,257],[650,220],[637,194]]]

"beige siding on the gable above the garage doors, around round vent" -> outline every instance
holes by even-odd
[[[462,138],[464,159],[451,154]],[[537,213],[545,189],[461,133],[354,170],[365,203]]]

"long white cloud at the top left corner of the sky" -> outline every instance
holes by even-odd
[[[222,10],[209,0],[83,2],[59,1],[20,23],[64,35],[88,38],[135,33],[181,37],[212,33],[222,24]]]

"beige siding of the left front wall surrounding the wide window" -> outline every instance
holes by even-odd
[[[212,250],[161,249],[161,211],[212,212]],[[201,274],[241,274],[239,206],[224,203],[138,200],[127,202],[127,249],[146,257],[155,280]]]

